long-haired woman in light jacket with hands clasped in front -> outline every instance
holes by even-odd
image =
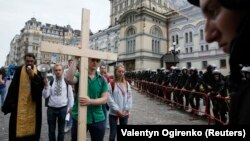
[[[120,125],[128,124],[129,112],[132,108],[132,92],[125,78],[125,67],[118,64],[114,71],[114,80],[109,83],[109,141],[115,141],[118,121]]]

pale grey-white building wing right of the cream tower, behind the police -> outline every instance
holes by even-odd
[[[169,19],[169,47],[179,49],[178,67],[195,67],[205,71],[213,64],[224,75],[229,74],[229,55],[217,43],[205,41],[205,20],[200,9],[186,1],[179,7],[177,15]],[[169,50],[170,51],[170,50]]]

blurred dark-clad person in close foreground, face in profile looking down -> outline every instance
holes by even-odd
[[[230,54],[230,124],[250,124],[250,89],[242,80],[241,67],[250,66],[249,0],[188,0],[201,8],[206,18],[208,43],[217,41]]]

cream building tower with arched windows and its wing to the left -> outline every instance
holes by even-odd
[[[111,26],[90,37],[90,48],[118,53],[127,71],[160,68],[172,10],[163,0],[110,0],[110,5]]]

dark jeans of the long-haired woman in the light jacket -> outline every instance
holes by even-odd
[[[117,134],[118,119],[120,125],[128,124],[128,116],[119,118],[118,116],[109,115],[109,125],[110,125],[109,141],[115,141],[115,137]]]

